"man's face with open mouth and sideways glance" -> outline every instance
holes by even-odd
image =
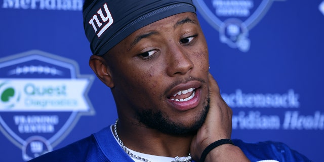
[[[196,131],[208,112],[208,49],[194,13],[149,24],[106,55],[118,115],[173,135]]]

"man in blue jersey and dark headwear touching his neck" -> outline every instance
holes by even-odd
[[[281,143],[230,140],[191,1],[86,1],[84,27],[118,119],[31,161],[309,161]]]

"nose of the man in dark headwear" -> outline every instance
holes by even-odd
[[[166,59],[169,76],[186,74],[194,66],[189,51],[185,50],[181,45],[170,46]]]

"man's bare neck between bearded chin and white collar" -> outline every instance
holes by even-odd
[[[124,145],[134,151],[157,156],[188,156],[193,136],[173,136],[139,123],[123,120],[117,133]]]

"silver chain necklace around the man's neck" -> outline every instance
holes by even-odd
[[[142,161],[146,161],[146,162],[151,162],[149,161],[148,159],[146,158],[143,158],[143,157],[140,157],[140,156],[137,156],[137,155],[134,155],[133,153],[131,153],[127,148],[126,146],[124,145],[124,143],[120,140],[119,136],[118,136],[118,133],[117,133],[117,123],[118,123],[118,119],[116,119],[115,121],[115,124],[114,124],[114,133],[115,133],[115,136],[117,138],[117,141],[119,142],[119,144],[121,145],[121,148],[124,149],[124,151],[131,157],[134,157],[136,159],[139,159],[139,160],[142,160]],[[189,153],[189,156],[187,156],[186,158],[180,160],[179,156],[175,157],[176,160],[173,160],[171,162],[190,162],[191,161],[191,155]]]

